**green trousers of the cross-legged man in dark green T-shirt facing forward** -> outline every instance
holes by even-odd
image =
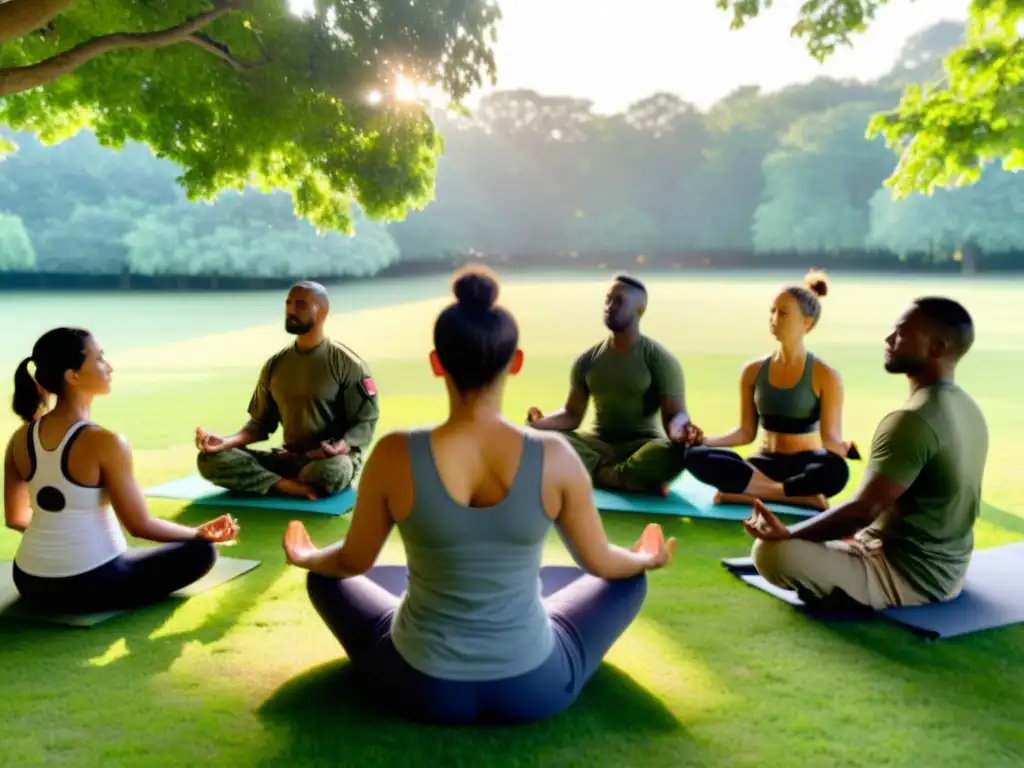
[[[594,434],[562,434],[580,455],[595,487],[606,490],[657,493],[686,466],[686,445],[668,438],[609,442]]]

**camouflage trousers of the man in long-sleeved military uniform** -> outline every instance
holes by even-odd
[[[200,474],[214,485],[261,496],[284,477],[300,480],[317,494],[333,496],[347,488],[358,470],[350,456],[308,460],[285,455],[281,449],[228,449],[219,454],[200,454],[196,464]]]

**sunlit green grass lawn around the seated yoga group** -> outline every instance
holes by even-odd
[[[650,279],[648,334],[681,357],[687,399],[707,431],[734,425],[740,364],[769,351],[777,276]],[[334,291],[330,331],[371,362],[381,430],[442,417],[427,365],[443,279],[382,281]],[[559,406],[572,356],[598,340],[603,281],[510,281],[526,367],[508,393],[510,418]],[[979,340],[961,382],[989,419],[991,453],[979,547],[1024,538],[1019,469],[1024,408],[1024,284],[870,281],[841,276],[813,349],[846,382],[845,432],[865,446],[905,396],[882,368],[882,340],[912,296],[941,292],[974,312]],[[114,394],[94,417],[125,432],[142,483],[193,471],[197,424],[233,431],[258,366],[287,343],[284,296],[30,296],[0,299],[0,365],[13,373],[39,332],[92,329],[116,367]],[[20,330],[15,330],[20,329]],[[9,402],[10,377],[0,395]],[[9,409],[0,431],[15,426]],[[1015,446],[1017,450],[1015,450]],[[856,487],[860,468],[848,493]],[[154,502],[195,523],[208,515]],[[827,626],[743,587],[719,565],[743,554],[738,523],[659,518],[680,547],[652,574],[648,603],[568,712],[522,728],[416,727],[360,708],[343,685],[340,647],[319,623],[302,574],[285,566],[289,516],[240,510],[239,546],[225,554],[261,567],[176,605],[92,630],[0,623],[0,765],[90,766],[841,766],[1020,765],[1024,754],[1024,628],[926,643],[888,623]],[[657,519],[657,518],[655,518]],[[347,519],[305,518],[314,541],[344,536]],[[616,542],[648,518],[606,515]],[[0,559],[17,545],[0,532]],[[384,562],[401,559],[397,537]],[[568,557],[553,538],[549,560]]]

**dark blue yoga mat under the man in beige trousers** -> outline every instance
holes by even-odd
[[[749,586],[794,607],[808,607],[793,590],[758,575],[750,558],[727,558],[722,564]],[[889,608],[878,615],[933,640],[1024,623],[1024,542],[975,551],[964,591],[952,600]]]

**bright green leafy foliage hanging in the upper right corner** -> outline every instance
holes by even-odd
[[[806,0],[793,34],[823,60],[870,24],[888,0]],[[770,0],[716,0],[741,28]],[[1024,3],[972,0],[967,37],[944,61],[943,79],[907,86],[895,110],[876,115],[900,159],[887,180],[896,197],[976,182],[986,165],[1024,168]]]

